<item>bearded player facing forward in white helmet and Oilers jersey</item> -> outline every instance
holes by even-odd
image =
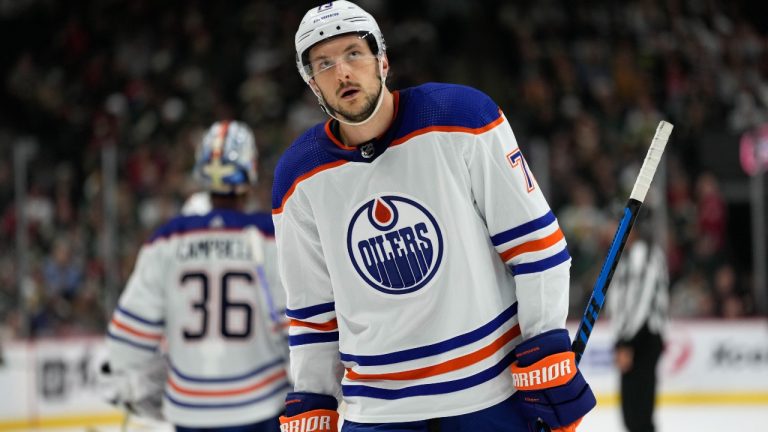
[[[391,92],[374,18],[306,13],[331,117],[275,172],[294,391],[283,431],[573,431],[595,405],[564,329],[570,256],[504,114],[472,88]],[[510,371],[511,367],[511,371]]]

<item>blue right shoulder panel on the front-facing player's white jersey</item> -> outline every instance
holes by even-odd
[[[400,98],[401,136],[429,127],[478,129],[501,116],[488,95],[463,85],[427,83],[401,91]]]

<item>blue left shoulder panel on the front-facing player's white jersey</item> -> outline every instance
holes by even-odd
[[[338,160],[338,157],[324,149],[323,141],[329,139],[325,134],[325,123],[319,123],[298,137],[280,157],[272,183],[273,209],[280,208],[283,197],[297,178]]]

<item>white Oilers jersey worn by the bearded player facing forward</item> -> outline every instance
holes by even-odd
[[[273,190],[295,391],[341,394],[357,422],[501,402],[512,349],[568,309],[563,234],[499,107],[444,84],[394,98],[360,148],[310,129]]]

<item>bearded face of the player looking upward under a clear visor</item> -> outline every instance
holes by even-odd
[[[310,50],[309,62],[312,83],[330,109],[353,122],[371,116],[381,93],[381,74],[379,59],[364,39],[347,35],[320,43]]]

